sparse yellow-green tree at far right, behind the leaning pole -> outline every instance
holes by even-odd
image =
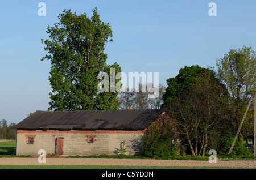
[[[254,92],[256,82],[256,54],[251,47],[243,46],[242,49],[230,49],[228,54],[217,59],[218,76],[230,94],[230,107],[232,107],[233,124],[237,127],[245,113],[246,106]],[[247,112],[243,122],[239,139],[253,133],[253,107]]]

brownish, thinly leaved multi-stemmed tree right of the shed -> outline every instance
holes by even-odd
[[[204,156],[213,137],[232,129],[228,97],[225,86],[209,70],[196,76],[191,88],[171,101],[167,113],[177,126],[181,143],[189,144],[193,156]]]

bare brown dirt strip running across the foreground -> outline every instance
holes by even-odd
[[[121,166],[194,166],[194,167],[237,167],[256,168],[256,160],[217,160],[217,163],[195,160],[150,160],[110,158],[52,158],[39,163],[38,158],[0,158],[0,165],[121,165]]]

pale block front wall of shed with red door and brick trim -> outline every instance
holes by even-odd
[[[142,130],[17,130],[17,155],[115,155],[125,141],[126,155],[141,152]]]

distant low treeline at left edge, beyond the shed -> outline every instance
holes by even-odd
[[[2,119],[0,121],[0,139],[16,139],[16,129],[13,128],[15,123],[7,125],[7,121]]]

